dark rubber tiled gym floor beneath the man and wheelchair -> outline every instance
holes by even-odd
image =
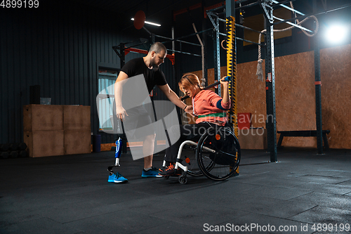
[[[268,152],[242,150],[239,176],[185,185],[142,178],[143,160],[128,153],[123,184],[107,183],[113,151],[1,160],[0,233],[347,233],[350,157],[284,148],[268,163]]]

